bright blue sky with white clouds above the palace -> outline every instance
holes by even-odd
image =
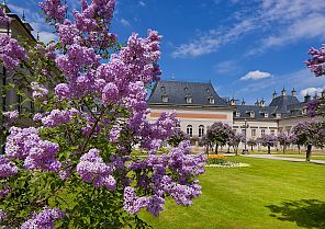
[[[221,96],[270,102],[284,87],[301,95],[325,89],[303,64],[325,43],[324,0],[116,0],[111,31],[121,43],[148,28],[162,36],[162,80],[211,81]],[[25,10],[41,38],[55,38],[36,0],[7,0]],[[78,0],[67,0],[79,9]]]

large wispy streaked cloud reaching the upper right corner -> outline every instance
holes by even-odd
[[[238,1],[240,8],[232,16],[231,28],[210,30],[179,45],[175,58],[195,58],[217,51],[223,46],[255,32],[261,37],[247,55],[255,55],[270,47],[290,45],[303,39],[325,38],[324,0],[259,0]],[[247,10],[249,9],[249,10]]]

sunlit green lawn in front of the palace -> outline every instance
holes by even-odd
[[[157,229],[325,228],[325,165],[243,157],[249,168],[208,168],[200,178],[203,195],[193,206],[171,199],[155,218]]]

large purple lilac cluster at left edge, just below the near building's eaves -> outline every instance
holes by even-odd
[[[25,50],[16,39],[10,38],[8,35],[0,35],[0,60],[3,61],[4,67],[16,68],[25,58]]]

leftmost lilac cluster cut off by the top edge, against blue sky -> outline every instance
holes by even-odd
[[[44,2],[40,2],[40,7],[47,16],[47,20],[57,22],[64,21],[68,8],[68,5],[61,4],[60,0],[45,0]]]

